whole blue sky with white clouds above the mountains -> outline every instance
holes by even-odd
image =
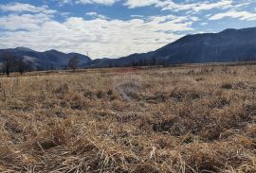
[[[92,59],[253,26],[256,0],[0,0],[0,49],[56,49]]]

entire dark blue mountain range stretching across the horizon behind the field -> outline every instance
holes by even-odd
[[[256,61],[256,27],[244,29],[226,29],[219,33],[187,35],[174,43],[169,43],[155,51],[132,54],[119,59],[97,59],[91,61],[78,53],[65,54],[57,50],[37,52],[27,47],[0,49],[1,55],[9,52],[17,57],[24,57],[35,66],[44,69],[64,68],[68,61],[77,56],[79,67],[110,67],[174,63],[201,63],[227,61]],[[154,63],[152,63],[154,62]]]

